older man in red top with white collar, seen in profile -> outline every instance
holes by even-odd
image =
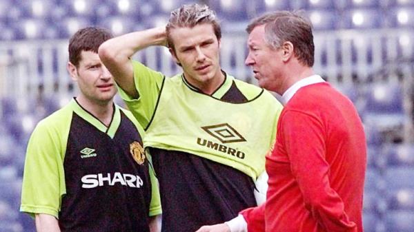
[[[199,232],[362,232],[364,129],[353,103],[314,74],[311,23],[295,12],[273,12],[247,32],[246,65],[284,102],[266,156],[267,200]]]

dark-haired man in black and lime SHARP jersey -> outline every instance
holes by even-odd
[[[20,210],[35,218],[37,231],[158,230],[159,191],[144,130],[113,103],[117,89],[97,54],[110,38],[99,28],[72,36],[68,72],[79,94],[30,137]]]

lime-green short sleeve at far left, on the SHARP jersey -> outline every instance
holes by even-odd
[[[46,123],[39,123],[30,137],[23,172],[20,211],[58,218],[66,193],[63,154],[59,138]]]

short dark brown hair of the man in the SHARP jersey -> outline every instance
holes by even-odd
[[[111,39],[112,33],[103,28],[88,27],[78,30],[69,40],[69,61],[76,67],[79,65],[82,51],[98,53],[99,45]]]

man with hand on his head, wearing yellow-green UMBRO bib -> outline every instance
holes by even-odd
[[[146,129],[160,184],[162,231],[196,231],[256,205],[255,180],[273,146],[282,106],[219,65],[221,29],[207,6],[184,5],[166,27],[103,43],[99,56]],[[166,78],[130,57],[167,46],[182,74]]]

